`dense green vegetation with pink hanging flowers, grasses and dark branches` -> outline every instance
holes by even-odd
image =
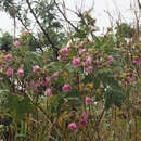
[[[0,4],[24,27],[16,39],[8,33],[0,38],[1,140],[140,140],[141,43],[136,29],[120,23],[95,36],[91,11],[78,12],[76,25],[55,0]],[[28,12],[40,30],[29,29]],[[69,24],[67,33],[56,13]]]

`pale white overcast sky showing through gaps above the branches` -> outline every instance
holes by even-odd
[[[64,1],[67,8],[73,10],[82,8],[82,11],[88,10],[93,3],[93,0]],[[138,7],[136,5],[136,1],[137,0],[94,0],[92,16],[97,18],[97,25],[101,27],[101,29],[110,26],[110,17],[105,11],[111,12],[115,20],[117,18],[116,15],[118,15],[120,12],[123,20],[130,23],[133,21],[133,12],[130,8],[130,3],[132,4],[133,9],[137,9]],[[68,13],[67,16],[70,20],[75,20],[75,16],[70,13]],[[13,21],[2,12],[0,12],[0,29],[3,31],[9,31],[13,35]]]

